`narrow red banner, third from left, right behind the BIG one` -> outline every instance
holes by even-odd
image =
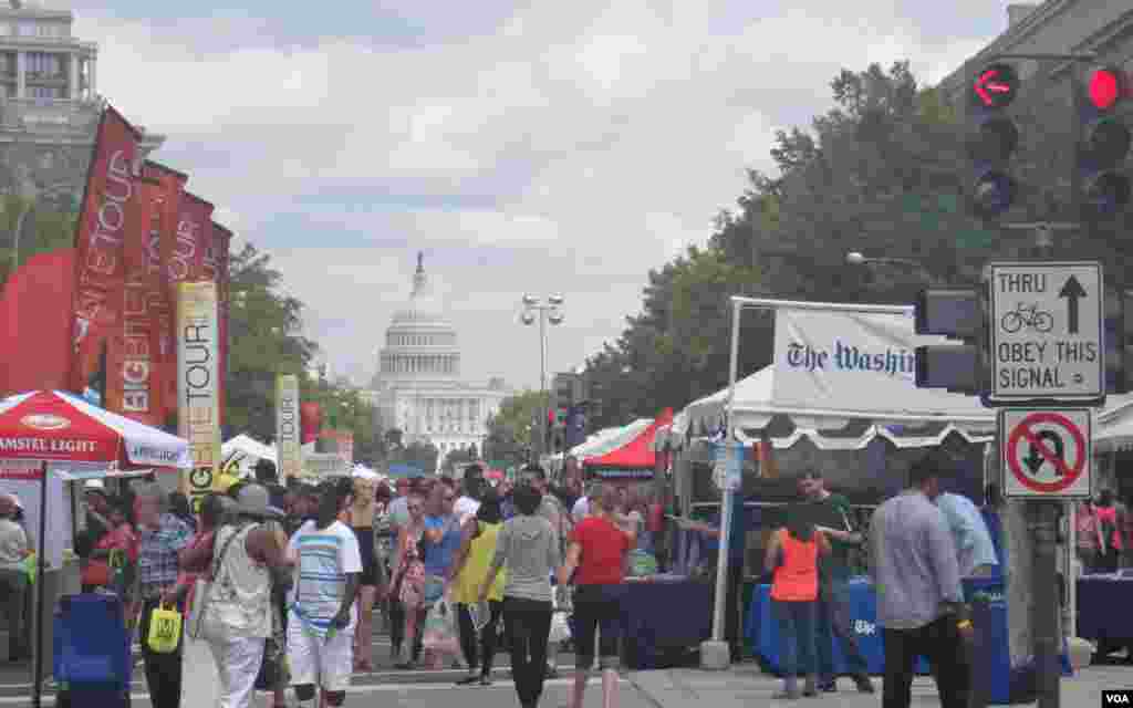
[[[151,329],[156,385],[151,387],[154,410],[162,424],[177,413],[177,348],[173,346],[173,299],[168,272],[162,267],[163,255],[171,254],[177,244],[177,221],[181,211],[181,193],[188,176],[163,164],[147,161],[142,174],[161,184],[159,203],[154,210],[153,230],[147,249],[151,314],[156,321]]]

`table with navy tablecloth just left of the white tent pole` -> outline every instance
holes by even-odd
[[[680,664],[712,637],[710,582],[667,575],[625,583],[625,665],[636,671]]]

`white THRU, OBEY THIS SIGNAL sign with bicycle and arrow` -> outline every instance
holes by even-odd
[[[993,263],[990,401],[1106,393],[1100,263]]]

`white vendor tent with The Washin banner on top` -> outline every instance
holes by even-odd
[[[959,471],[949,491],[980,504],[995,411],[973,396],[913,385],[915,347],[944,340],[915,335],[911,307],[760,302],[775,310],[773,361],[738,377],[730,425],[730,391],[723,390],[682,410],[663,444],[674,452],[680,515],[709,524],[718,524],[722,500],[713,475],[716,447],[727,434],[743,445],[738,511],[746,530],[747,622],[741,626],[748,648],[770,668],[778,649],[774,628],[760,621],[769,612],[763,555],[769,534],[782,524],[783,506],[799,500],[798,476],[820,472],[829,489],[850,498],[857,512],[852,523],[868,531],[872,509],[905,486],[909,468],[927,447],[939,447]],[[717,546],[701,534],[678,530],[674,571],[709,581]],[[851,564],[862,615],[855,628],[877,632],[864,553]],[[706,623],[700,639],[709,633]]]

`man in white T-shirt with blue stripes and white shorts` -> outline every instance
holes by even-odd
[[[288,544],[296,569],[287,649],[300,706],[315,699],[318,685],[326,705],[338,708],[350,685],[361,553],[358,537],[338,517],[349,509],[352,494],[349,477],[324,485],[318,519],[299,527]]]

